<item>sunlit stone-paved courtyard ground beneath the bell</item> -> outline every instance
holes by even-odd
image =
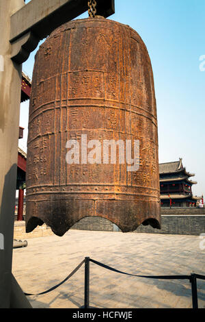
[[[70,230],[63,237],[31,238],[14,249],[13,274],[26,293],[55,286],[85,258],[128,273],[205,275],[199,236]],[[205,308],[205,281],[197,280],[198,303]],[[33,308],[80,308],[84,266],[46,295],[28,297]],[[95,308],[191,308],[188,280],[148,280],[114,273],[90,263],[90,306]]]

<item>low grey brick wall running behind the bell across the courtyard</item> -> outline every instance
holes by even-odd
[[[140,225],[136,233],[150,234],[183,234],[200,235],[205,233],[205,208],[173,208],[161,210],[162,225],[161,230],[156,230],[150,226]],[[99,230],[108,232],[118,232],[120,229],[107,219],[90,216],[81,219],[72,226],[73,230]],[[33,232],[25,232],[25,221],[15,221],[14,239],[27,239],[52,235],[53,232],[46,225],[36,227]]]

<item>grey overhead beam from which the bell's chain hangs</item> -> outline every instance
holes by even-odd
[[[115,12],[115,0],[97,0],[96,10],[107,18]],[[86,11],[87,0],[31,0],[11,16],[12,60],[22,64],[39,40]]]

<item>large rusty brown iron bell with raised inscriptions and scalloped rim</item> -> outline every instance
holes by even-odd
[[[99,16],[71,21],[40,46],[26,199],[27,232],[46,223],[62,236],[85,216],[109,219],[122,232],[141,223],[160,228],[152,66],[131,27]]]

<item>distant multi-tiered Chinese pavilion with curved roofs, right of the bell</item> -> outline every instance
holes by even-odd
[[[195,207],[199,197],[194,197],[189,173],[182,164],[182,159],[176,162],[159,164],[159,182],[162,207]]]

